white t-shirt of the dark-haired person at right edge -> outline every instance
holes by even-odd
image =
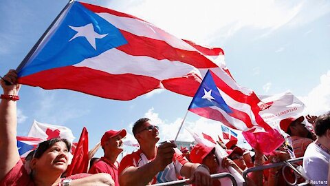
[[[308,145],[303,161],[305,174],[313,185],[327,185],[330,155],[315,143]]]

